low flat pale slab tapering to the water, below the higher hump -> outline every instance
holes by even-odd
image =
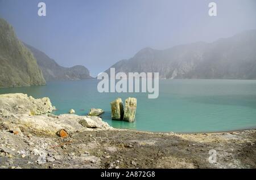
[[[23,130],[24,135],[56,135],[56,132],[65,130],[68,134],[91,130],[112,129],[108,123],[96,116],[79,116],[75,114],[60,114],[59,118],[48,117],[47,115],[31,116],[27,114],[16,115],[12,118],[5,118],[1,122],[8,130],[16,131],[16,127]],[[18,135],[21,135],[18,132]]]

